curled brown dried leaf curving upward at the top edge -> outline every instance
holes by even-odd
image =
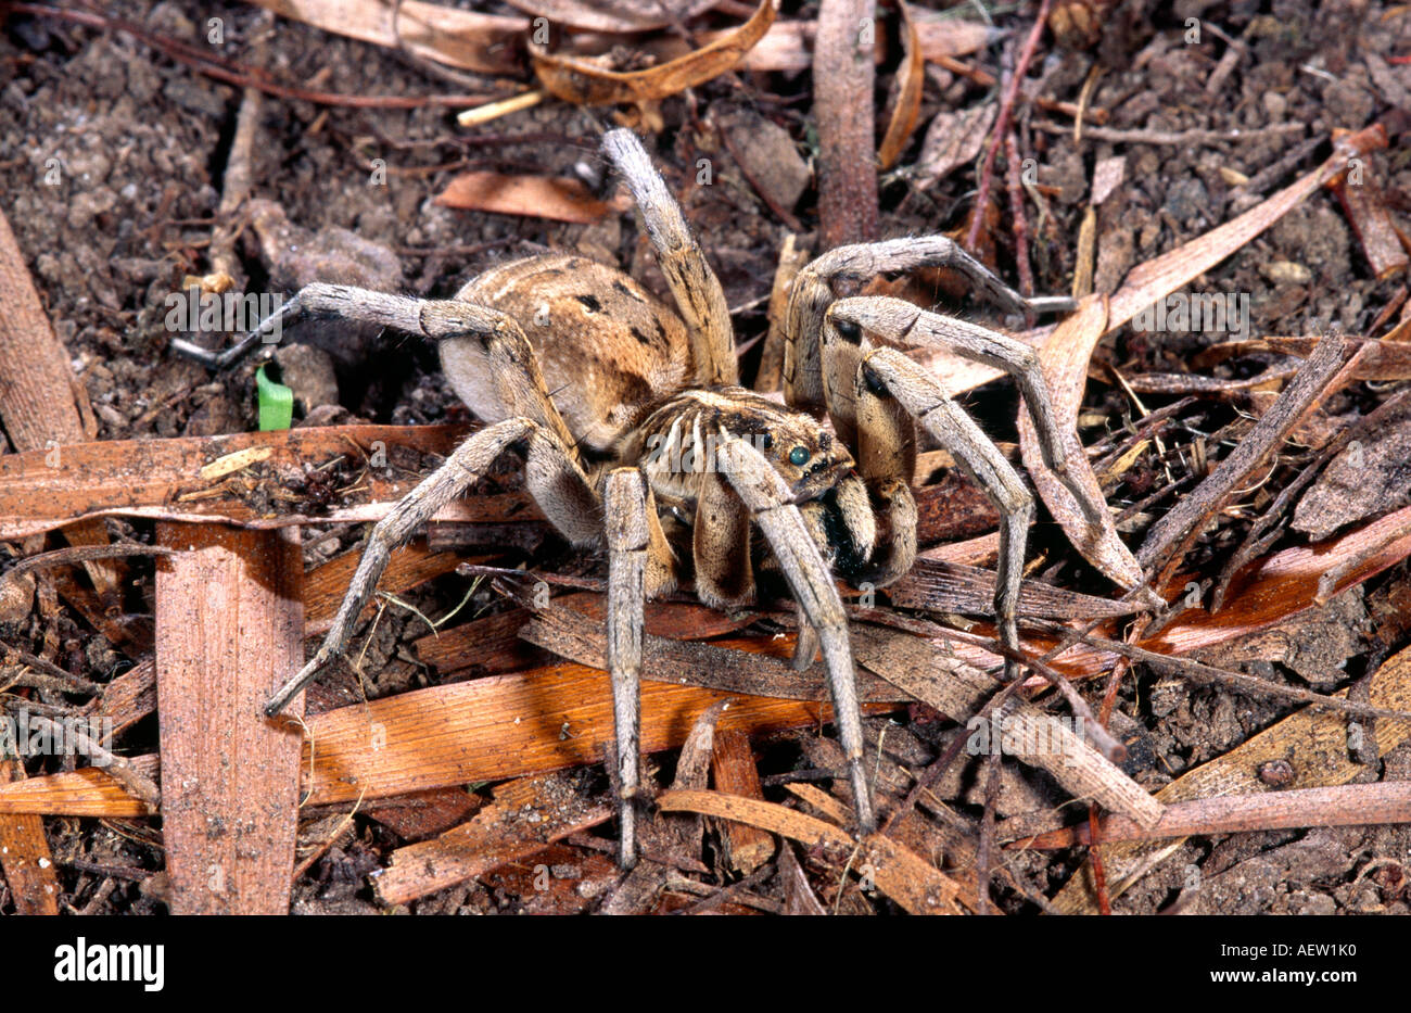
[[[773,0],[761,0],[759,10],[729,35],[646,71],[610,71],[587,58],[550,54],[533,41],[529,42],[529,59],[545,89],[564,102],[579,106],[642,104],[734,69],[773,21]]]

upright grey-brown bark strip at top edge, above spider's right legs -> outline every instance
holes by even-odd
[[[818,120],[818,226],[823,248],[871,243],[879,236],[875,0],[823,0],[814,55]]]

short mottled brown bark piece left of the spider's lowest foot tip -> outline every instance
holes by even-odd
[[[586,799],[563,777],[523,777],[495,789],[490,806],[440,837],[392,852],[373,886],[384,904],[406,904],[454,886],[569,834],[612,817],[612,806]]]

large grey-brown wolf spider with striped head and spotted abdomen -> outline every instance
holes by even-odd
[[[621,865],[636,858],[643,602],[686,576],[706,604],[727,608],[753,601],[756,569],[782,571],[800,611],[794,663],[810,665],[821,648],[858,824],[869,832],[876,823],[834,574],[882,587],[912,567],[917,512],[909,481],[920,423],[999,506],[995,612],[1000,639],[1017,649],[1019,580],[1034,506],[1015,468],[937,381],[868,336],[940,346],[1013,374],[1046,464],[1094,516],[1105,506],[1067,480],[1048,388],[1029,346],[900,299],[840,298],[835,286],[944,265],[1010,310],[1031,315],[1037,301],[1027,303],[941,236],[825,253],[793,282],[787,406],[777,405],[737,385],[725,295],[638,138],[614,130],[602,151],[632,192],[676,313],[618,269],[545,254],[487,271],[453,299],[310,284],[224,354],[179,344],[223,367],[303,315],[380,323],[436,341],[456,394],[490,423],[373,528],[323,645],[265,712],[277,714],[343,652],[391,552],[518,447],[526,488],[550,523],[574,545],[607,545]],[[752,526],[768,553],[751,552]]]

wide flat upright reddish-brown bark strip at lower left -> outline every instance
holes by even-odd
[[[301,735],[261,707],[303,660],[298,532],[161,523],[157,536],[185,550],[157,573],[172,913],[285,914]]]

